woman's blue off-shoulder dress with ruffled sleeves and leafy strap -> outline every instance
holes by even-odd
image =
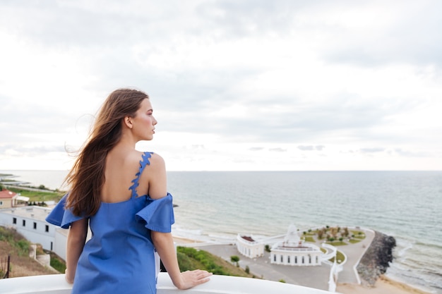
[[[169,193],[158,200],[136,194],[141,173],[150,164],[150,154],[143,154],[140,170],[129,188],[131,198],[102,202],[97,214],[90,216],[92,238],[78,259],[72,293],[156,293],[160,264],[150,231],[170,233],[174,212]],[[64,208],[66,196],[46,218],[61,228],[82,219]]]

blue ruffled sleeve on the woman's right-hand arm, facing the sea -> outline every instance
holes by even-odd
[[[157,200],[148,198],[146,205],[136,214],[138,221],[145,221],[145,227],[150,231],[170,233],[175,222],[172,195]]]

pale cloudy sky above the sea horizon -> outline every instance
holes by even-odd
[[[105,97],[181,170],[441,170],[442,1],[0,2],[0,170],[68,169]]]

